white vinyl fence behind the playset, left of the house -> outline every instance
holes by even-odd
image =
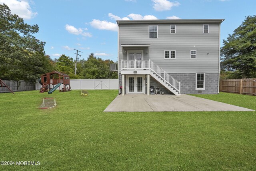
[[[118,79],[78,79],[70,80],[71,89],[118,89]],[[37,82],[36,89],[39,90],[41,85]]]

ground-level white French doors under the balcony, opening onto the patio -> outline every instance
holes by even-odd
[[[144,76],[127,76],[127,93],[144,94]]]

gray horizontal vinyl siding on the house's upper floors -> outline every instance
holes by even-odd
[[[203,33],[204,24],[175,24],[176,34],[170,34],[170,24],[157,24],[157,39],[149,38],[149,24],[120,24],[119,70],[121,60],[127,60],[121,44],[150,44],[148,54],[147,48],[128,50],[144,50],[144,60],[151,59],[168,73],[218,73],[219,24],[209,24],[208,34]],[[164,50],[176,50],[176,59],[164,59]],[[190,59],[190,50],[196,50],[196,59]]]

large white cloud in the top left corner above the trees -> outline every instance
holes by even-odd
[[[37,12],[32,12],[26,0],[0,0],[0,4],[8,5],[12,14],[17,14],[23,19],[31,19],[37,15]]]

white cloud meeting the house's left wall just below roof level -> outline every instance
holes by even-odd
[[[117,24],[108,22],[108,21],[100,21],[100,20],[92,20],[90,22],[91,26],[94,28],[97,28],[99,30],[110,30],[110,31],[115,31],[117,32]]]

